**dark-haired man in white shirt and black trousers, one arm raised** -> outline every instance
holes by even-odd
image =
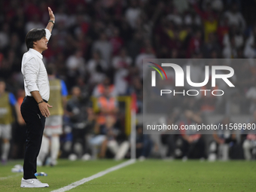
[[[32,29],[26,35],[26,47],[22,59],[21,72],[24,76],[26,97],[20,106],[23,119],[26,121],[27,138],[23,164],[23,178],[20,187],[49,187],[36,177],[36,159],[41,148],[45,118],[50,116],[47,104],[50,97],[50,86],[47,71],[41,53],[47,50],[47,42],[55,23],[53,11],[48,8],[50,20],[46,29]]]

